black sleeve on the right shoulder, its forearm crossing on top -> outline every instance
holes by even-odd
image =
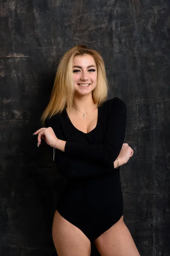
[[[65,153],[81,157],[105,166],[113,166],[125,139],[126,105],[121,99],[112,99],[105,137],[102,144],[84,144],[66,141]]]

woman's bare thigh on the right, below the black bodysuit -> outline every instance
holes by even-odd
[[[140,256],[133,238],[123,221],[116,224],[94,241],[101,256]]]

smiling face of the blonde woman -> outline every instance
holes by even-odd
[[[91,55],[85,54],[74,57],[73,79],[76,93],[86,95],[94,90],[97,83],[97,68]]]

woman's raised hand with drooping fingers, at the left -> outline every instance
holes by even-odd
[[[51,147],[55,148],[56,147],[56,143],[59,140],[54,131],[53,128],[48,127],[48,128],[40,128],[39,130],[37,130],[34,135],[38,134],[37,140],[38,140],[38,147],[41,144],[41,138],[43,140],[45,140],[45,142],[50,145]]]

